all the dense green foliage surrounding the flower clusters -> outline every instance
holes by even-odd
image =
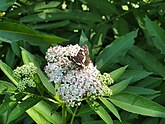
[[[60,124],[67,110],[70,124],[164,124],[164,22],[164,0],[1,0],[0,123]],[[97,69],[114,80],[112,96],[62,111],[44,56],[68,44],[88,46]],[[36,88],[20,93],[13,70],[29,62]]]

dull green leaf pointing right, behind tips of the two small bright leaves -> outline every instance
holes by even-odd
[[[151,75],[152,72],[148,72],[146,70],[126,70],[124,74],[120,77],[120,79],[128,79],[129,77],[132,77],[131,83],[134,83],[136,81],[139,81],[149,75]]]

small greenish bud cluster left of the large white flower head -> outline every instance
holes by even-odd
[[[14,70],[14,76],[19,79],[18,90],[24,91],[28,87],[36,87],[34,75],[37,73],[37,68],[32,62],[17,67]]]

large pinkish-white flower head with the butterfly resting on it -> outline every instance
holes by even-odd
[[[83,98],[104,95],[100,72],[88,57],[88,49],[79,45],[50,47],[45,72],[49,81],[59,85],[57,94],[69,106],[80,105]]]

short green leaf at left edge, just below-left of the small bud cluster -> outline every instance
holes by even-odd
[[[16,87],[7,81],[0,80],[0,94],[13,93]]]

